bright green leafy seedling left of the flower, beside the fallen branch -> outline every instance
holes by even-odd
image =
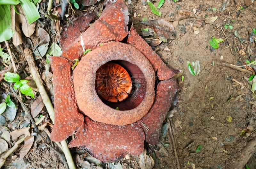
[[[13,87],[15,89],[20,89],[20,92],[24,95],[29,95],[35,98],[32,88],[30,88],[27,84],[28,80],[20,80],[19,74],[14,74],[11,72],[6,72],[4,74],[4,80],[10,83],[15,82]]]

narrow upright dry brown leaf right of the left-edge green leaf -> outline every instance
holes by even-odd
[[[21,31],[20,31],[20,22],[18,19],[18,14],[15,12],[11,5],[11,21],[12,21],[12,30],[14,30],[14,34],[12,36],[12,44],[16,47],[20,44],[22,44],[22,37],[21,37]],[[17,19],[16,19],[17,18]]]

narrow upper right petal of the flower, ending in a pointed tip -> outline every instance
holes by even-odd
[[[140,35],[132,27],[129,33],[128,43],[143,53],[152,64],[157,76],[160,80],[166,80],[172,78],[174,75],[179,73],[179,70],[172,70],[167,67],[163,60],[153,51],[148,43],[140,37]]]

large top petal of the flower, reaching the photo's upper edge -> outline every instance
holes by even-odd
[[[108,3],[102,11],[100,18],[94,22],[82,35],[84,49],[95,49],[100,44],[110,41],[121,41],[128,34],[129,12],[123,0]],[[73,61],[83,55],[81,38],[77,38],[61,54],[62,57]]]

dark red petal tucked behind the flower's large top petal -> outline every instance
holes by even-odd
[[[59,42],[61,50],[66,50],[74,40],[81,36],[82,32],[86,31],[86,29],[90,27],[90,22],[96,19],[97,16],[94,12],[88,12],[73,19],[67,25],[63,26],[60,31]]]

